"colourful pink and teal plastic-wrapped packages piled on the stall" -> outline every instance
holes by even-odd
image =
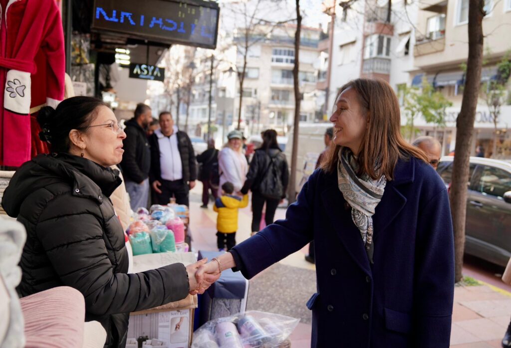
[[[188,252],[189,246],[184,242],[188,216],[188,207],[177,204],[153,205],[149,211],[146,208],[136,209],[134,221],[126,230],[133,256]]]

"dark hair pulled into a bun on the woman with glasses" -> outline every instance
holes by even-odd
[[[39,138],[50,144],[51,152],[68,152],[71,147],[69,132],[85,130],[96,117],[103,101],[90,96],[74,96],[62,101],[56,109],[51,106],[41,108],[37,122],[42,131]]]

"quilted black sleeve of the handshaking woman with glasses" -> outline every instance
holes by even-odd
[[[58,211],[57,208],[58,202],[53,207],[50,202],[45,211]],[[108,259],[109,241],[100,223],[102,217],[92,213],[89,206],[84,205],[73,215],[43,215],[47,216],[37,223],[36,235],[63,285],[83,294],[88,313],[138,311],[188,295],[188,274],[180,263],[137,274],[114,273]]]

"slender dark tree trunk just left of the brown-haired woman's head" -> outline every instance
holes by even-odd
[[[300,66],[300,32],[301,32],[301,15],[300,0],[296,0],[296,33],[294,34],[294,126],[293,126],[293,148],[291,152],[291,177],[289,180],[288,201],[292,204],[296,201],[296,160],[298,158],[298,132],[300,124],[300,89],[298,88],[298,71]]]

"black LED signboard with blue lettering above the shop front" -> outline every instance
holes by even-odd
[[[215,48],[220,8],[201,0],[95,0],[92,30]]]

